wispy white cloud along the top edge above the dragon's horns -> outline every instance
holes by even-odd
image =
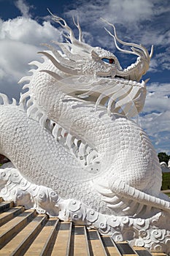
[[[158,1],[158,0],[157,0]],[[100,25],[99,18],[105,18],[112,23],[123,25],[139,23],[141,20],[150,19],[153,14],[154,3],[148,0],[103,0],[80,1],[74,5],[74,10],[67,12],[69,15],[80,15],[82,23]]]

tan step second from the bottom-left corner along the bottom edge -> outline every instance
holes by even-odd
[[[24,255],[45,255],[45,245],[48,244],[49,237],[51,236],[51,233],[53,233],[56,221],[57,219],[50,219],[46,223],[46,225],[42,228],[38,236],[36,236],[31,246],[29,246],[28,250]]]

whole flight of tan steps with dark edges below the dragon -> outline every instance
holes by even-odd
[[[115,243],[97,230],[72,222],[48,218],[34,210],[15,207],[0,198],[0,255],[43,256],[165,256],[161,252],[148,252],[127,242]]]

